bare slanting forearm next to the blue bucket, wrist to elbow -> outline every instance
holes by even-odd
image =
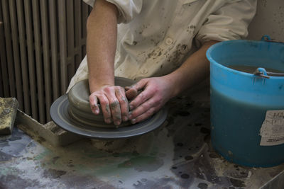
[[[205,42],[200,50],[188,57],[180,68],[164,76],[174,86],[172,97],[194,86],[209,75],[209,61],[206,57],[206,51],[215,43],[217,41]]]

